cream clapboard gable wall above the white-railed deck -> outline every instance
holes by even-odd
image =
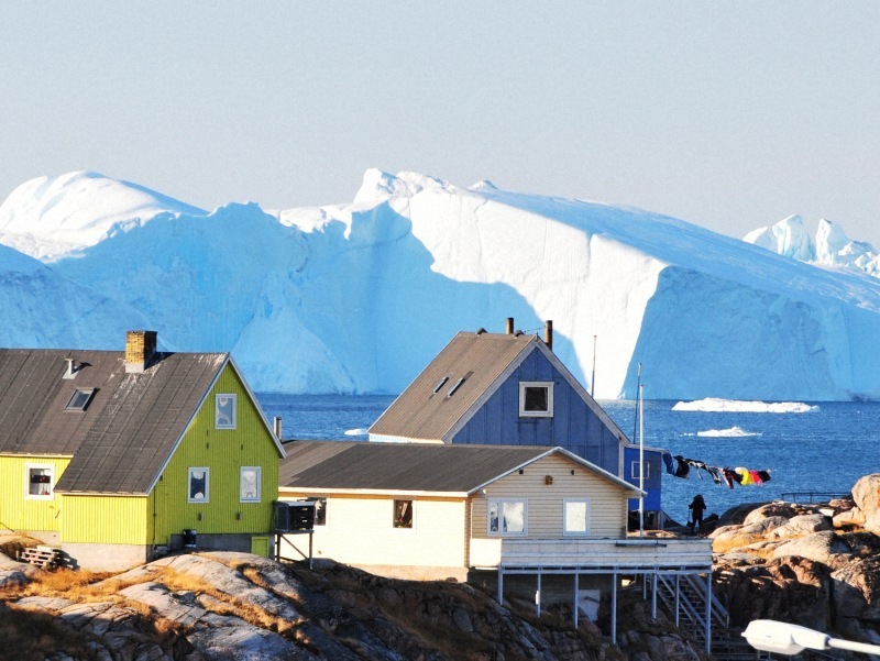
[[[572,471],[574,474],[572,475]],[[546,476],[553,478],[546,484]],[[487,504],[493,498],[525,499],[528,502],[527,535],[508,536],[527,539],[623,538],[626,537],[628,493],[623,487],[596,475],[560,455],[546,456],[486,487],[485,496],[473,498],[471,536],[488,535]],[[590,533],[563,536],[563,500],[590,499]]]

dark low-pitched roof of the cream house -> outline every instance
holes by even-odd
[[[554,450],[366,441],[294,441],[284,449],[282,488],[453,493],[471,492]]]

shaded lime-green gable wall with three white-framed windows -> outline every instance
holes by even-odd
[[[215,395],[237,395],[237,428],[215,429]],[[227,366],[151,493],[156,526],[152,543],[166,544],[184,529],[200,535],[268,533],[278,495],[278,450],[244,384]],[[208,503],[189,503],[190,467],[209,469]],[[241,466],[261,466],[260,503],[241,503]],[[201,520],[199,520],[201,515]]]

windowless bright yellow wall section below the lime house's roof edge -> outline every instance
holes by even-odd
[[[148,544],[145,496],[64,497],[62,541],[65,543]]]

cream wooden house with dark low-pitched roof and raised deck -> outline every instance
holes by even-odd
[[[584,606],[603,593],[614,604],[624,575],[703,576],[708,590],[708,540],[628,537],[627,500],[640,492],[563,448],[295,441],[285,450],[279,498],[311,500],[317,520],[311,536],[279,537],[284,558],[310,541],[315,558],[483,582],[499,601],[537,594],[539,608],[541,598]]]

